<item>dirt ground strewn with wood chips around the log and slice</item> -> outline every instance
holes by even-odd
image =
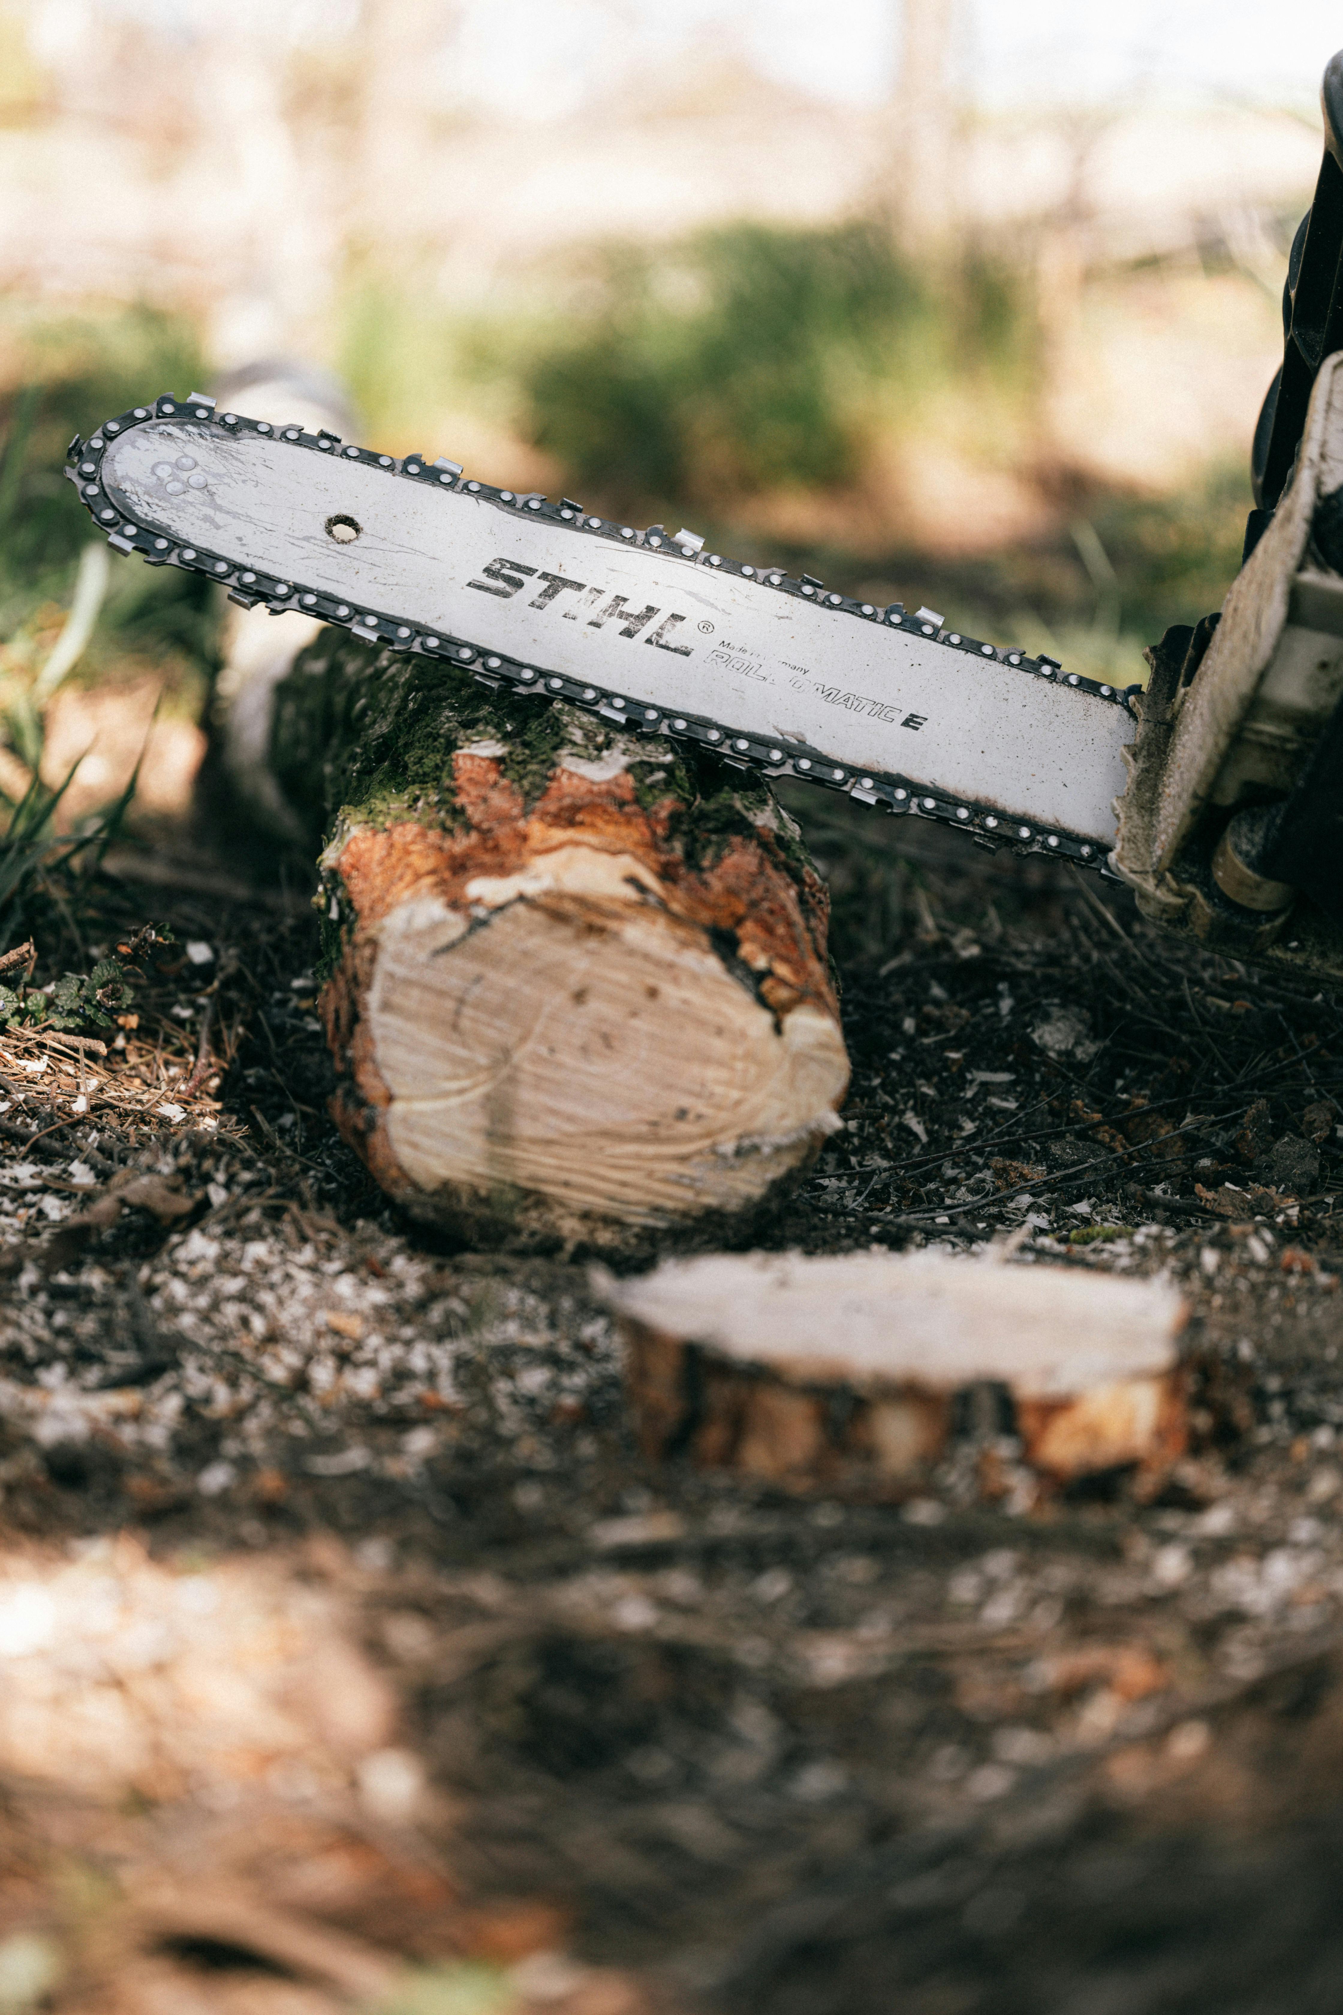
[[[854,1086],[769,1243],[1160,1271],[1192,1453],[646,1465],[582,1253],[336,1138],[306,891],[123,850],[50,953],[171,923],[121,1048],[0,1032],[0,2007],[1339,2007],[1339,1005],[797,808]]]

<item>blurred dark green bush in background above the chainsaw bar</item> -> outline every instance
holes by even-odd
[[[874,224],[735,224],[602,254],[524,367],[536,445],[634,508],[862,474],[866,439],[948,379],[1029,397],[1035,316],[981,258],[916,270]]]

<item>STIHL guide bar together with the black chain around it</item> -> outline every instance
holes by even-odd
[[[77,439],[68,474],[115,548],[203,572],[246,604],[300,609],[989,844],[1091,866],[1113,844],[1130,695],[932,611],[856,602],[457,463],[217,415],[199,395]]]

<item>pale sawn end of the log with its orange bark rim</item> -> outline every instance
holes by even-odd
[[[457,824],[328,846],[336,1124],[473,1243],[749,1235],[848,1084],[824,891],[767,824],[687,860],[677,802],[620,760],[586,772],[528,804],[497,752],[459,750]]]

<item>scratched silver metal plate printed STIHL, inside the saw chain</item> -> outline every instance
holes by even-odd
[[[528,516],[526,500],[405,480],[391,457],[318,455],[215,421],[129,429],[109,441],[103,480],[171,540],[348,596],[354,611],[393,611],[662,711],[1113,840],[1128,711],[989,647],[975,657],[936,629],[924,639],[854,621],[819,594],[775,592],[767,574],[697,564],[670,540],[580,538],[578,524]],[[350,544],[326,530],[340,514],[358,526]]]

